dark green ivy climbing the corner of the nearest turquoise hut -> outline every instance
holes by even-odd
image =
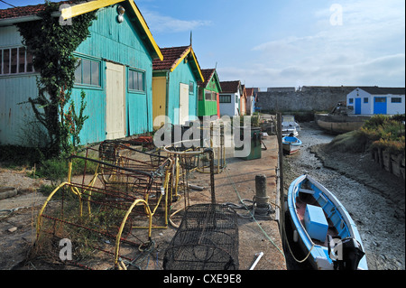
[[[69,3],[73,3],[72,1]],[[96,19],[96,11],[78,15],[69,23],[60,23],[52,14],[60,4],[45,2],[38,14],[42,19],[18,23],[23,44],[33,55],[33,66],[40,73],[37,78],[38,96],[29,98],[37,120],[49,135],[51,155],[69,153],[80,142],[78,134],[88,116],[83,115],[86,102],[81,93],[80,107],[70,99],[75,81],[78,59],[74,57],[78,45],[89,36],[88,28]]]

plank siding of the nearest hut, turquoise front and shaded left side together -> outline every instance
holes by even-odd
[[[135,25],[135,14],[129,2],[121,2],[126,13],[123,23],[117,22],[117,5],[106,6],[97,11],[97,20],[89,28],[90,36],[82,42],[75,55],[100,63],[100,86],[75,84],[72,99],[77,110],[80,93],[86,93],[87,107],[84,115],[89,116],[80,132],[81,144],[92,144],[106,140],[106,66],[112,62],[125,67],[125,135],[152,132],[152,51],[148,50],[140,37],[139,26]],[[75,18],[72,19],[75,21]],[[0,48],[22,45],[22,37],[15,26],[0,27]],[[143,73],[144,91],[128,88],[128,71]],[[38,89],[36,74],[0,76],[0,144],[17,143],[19,134],[17,121],[32,118],[29,106],[17,103],[35,98]]]

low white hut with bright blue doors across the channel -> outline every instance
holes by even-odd
[[[346,96],[346,106],[355,115],[405,113],[405,88],[362,87]]]

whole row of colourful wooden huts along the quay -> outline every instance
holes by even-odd
[[[221,82],[216,69],[201,69],[189,46],[160,48],[134,0],[62,1],[62,21],[97,11],[79,59],[72,98],[86,93],[88,120],[81,144],[152,132],[198,117],[251,115],[254,88]],[[34,119],[28,98],[38,94],[38,73],[16,24],[38,20],[45,5],[0,10],[0,144],[32,145]],[[67,24],[67,23],[61,23]],[[68,23],[69,24],[69,23]],[[72,32],[74,33],[74,32]],[[160,117],[161,116],[161,117]]]

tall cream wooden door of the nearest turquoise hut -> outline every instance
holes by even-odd
[[[125,66],[106,62],[106,139],[125,137]]]

